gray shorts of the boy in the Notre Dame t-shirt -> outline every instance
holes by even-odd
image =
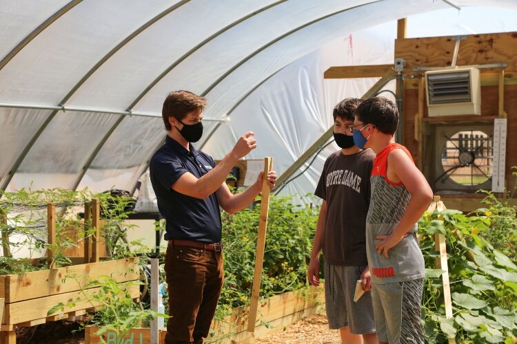
[[[375,332],[372,293],[365,292],[354,302],[356,281],[365,267],[325,264],[325,308],[332,330],[348,326],[353,334]]]

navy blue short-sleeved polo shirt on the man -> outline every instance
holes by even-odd
[[[183,173],[201,178],[215,162],[210,155],[190,151],[167,136],[165,144],[154,153],[149,165],[152,188],[158,208],[165,217],[165,240],[187,239],[208,244],[221,242],[221,212],[215,193],[200,200],[172,190],[172,184]]]

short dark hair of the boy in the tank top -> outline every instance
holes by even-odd
[[[364,100],[354,112],[365,124],[372,124],[381,131],[393,135],[398,126],[398,109],[389,99],[374,97]]]

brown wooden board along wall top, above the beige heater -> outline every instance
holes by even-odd
[[[395,58],[405,59],[404,74],[420,74],[412,69],[450,66],[454,46],[455,42],[451,36],[397,39]],[[507,63],[505,70],[515,72],[517,58],[514,56],[517,56],[517,32],[473,34],[461,42],[456,65]]]

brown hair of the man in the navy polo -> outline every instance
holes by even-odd
[[[173,91],[167,95],[161,109],[161,117],[165,130],[170,131],[169,117],[183,120],[192,111],[203,111],[206,107],[205,97],[198,96],[189,91]]]

